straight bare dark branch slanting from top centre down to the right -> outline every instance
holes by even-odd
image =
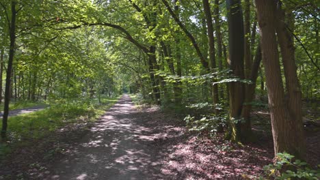
[[[202,63],[202,66],[209,70],[209,63],[206,62],[206,59],[202,55],[202,52],[201,52],[201,50],[200,50],[200,48],[199,48],[194,36],[188,31],[188,29],[185,27],[185,25],[183,25],[183,23],[181,23],[181,20],[178,18],[178,16],[176,16],[176,14],[174,14],[174,12],[173,12],[172,8],[170,7],[168,1],[162,0],[162,2],[165,5],[165,7],[167,7],[167,10],[170,12],[172,18],[174,18],[174,20],[179,25],[179,27],[181,29],[183,29],[183,31],[185,32],[185,35],[187,35],[187,37],[189,37],[189,40],[191,40],[192,45],[196,49],[197,55],[200,58],[200,62]]]

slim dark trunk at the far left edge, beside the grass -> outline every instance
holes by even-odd
[[[11,1],[11,22],[10,22],[10,50],[8,59],[7,77],[5,78],[5,102],[3,108],[1,137],[6,138],[8,127],[9,103],[10,103],[10,85],[12,65],[14,61],[14,48],[16,42],[16,1]]]

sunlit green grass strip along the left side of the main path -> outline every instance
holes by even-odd
[[[117,101],[118,97],[103,97],[101,103],[97,100],[64,102],[51,104],[44,110],[9,117],[8,142],[0,142],[0,159],[1,156],[10,152],[10,147],[41,140],[70,123],[94,121]]]

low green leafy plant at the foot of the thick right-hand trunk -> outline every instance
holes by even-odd
[[[319,165],[318,165],[319,166]],[[320,167],[320,166],[319,166]],[[276,162],[264,167],[267,177],[271,179],[314,179],[320,177],[320,170],[312,169],[301,160],[295,160],[294,155],[289,153],[278,153]],[[261,177],[261,179],[263,179]]]

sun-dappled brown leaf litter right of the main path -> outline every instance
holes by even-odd
[[[263,172],[259,162],[270,163],[272,153],[261,148],[245,146],[243,150],[232,144],[226,144],[226,148],[217,146],[219,142],[215,145],[211,140],[196,137],[173,145],[172,153],[163,160],[161,172],[181,179],[242,179],[243,175],[252,177]]]

